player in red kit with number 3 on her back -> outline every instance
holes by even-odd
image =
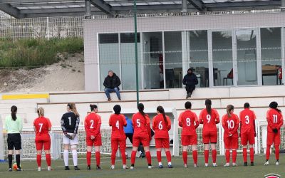
[[[249,103],[244,103],[244,110],[239,112],[240,132],[244,166],[247,166],[247,143],[249,143],[250,165],[254,166],[254,137],[257,137],[255,120],[257,117],[253,110],[249,109]]]

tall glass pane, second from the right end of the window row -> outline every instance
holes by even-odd
[[[257,85],[257,31],[239,30],[237,36],[237,85]]]

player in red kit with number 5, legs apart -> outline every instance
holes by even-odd
[[[151,130],[150,130],[150,117],[148,117],[143,110],[145,106],[140,103],[138,104],[138,113],[133,115],[133,151],[131,156],[131,167],[130,169],[134,169],[135,167],[135,155],[137,154],[138,147],[140,146],[140,142],[142,142],[142,146],[145,150],[145,157],[147,159],[148,168],[152,168],[151,164],[151,155],[150,155],[150,140],[151,140]]]

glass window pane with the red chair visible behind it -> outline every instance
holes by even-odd
[[[232,31],[212,32],[214,86],[234,85]]]

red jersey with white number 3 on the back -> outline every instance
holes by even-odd
[[[257,119],[253,110],[246,108],[239,112],[239,119],[241,122],[241,134],[244,133],[255,133],[254,122]]]

